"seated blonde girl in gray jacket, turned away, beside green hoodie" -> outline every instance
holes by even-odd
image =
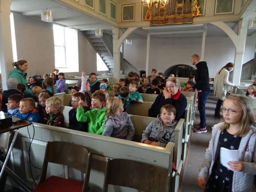
[[[121,98],[108,98],[106,102],[106,123],[102,135],[132,140],[134,126],[128,114],[123,110]]]

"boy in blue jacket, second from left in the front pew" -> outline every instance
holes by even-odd
[[[24,98],[20,101],[20,119],[40,123],[41,117],[36,110],[35,101],[32,98]]]

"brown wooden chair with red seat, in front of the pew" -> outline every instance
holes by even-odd
[[[52,141],[48,142],[44,155],[42,174],[38,186],[32,192],[86,192],[89,190],[90,166],[92,154],[80,145]],[[71,179],[50,176],[46,179],[48,162],[62,164],[64,166],[75,168],[85,174],[84,182],[77,182]]]

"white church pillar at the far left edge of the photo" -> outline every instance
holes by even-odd
[[[13,69],[12,36],[10,26],[10,5],[12,0],[0,0],[0,67],[3,90],[7,90],[6,81]]]

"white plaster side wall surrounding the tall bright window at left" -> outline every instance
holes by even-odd
[[[28,76],[52,72],[55,68],[52,23],[14,12],[14,27],[17,56],[18,59],[28,61]],[[78,60],[80,72],[65,73],[65,76],[78,75],[82,70],[88,74],[97,72],[96,52],[80,31],[78,31]]]

